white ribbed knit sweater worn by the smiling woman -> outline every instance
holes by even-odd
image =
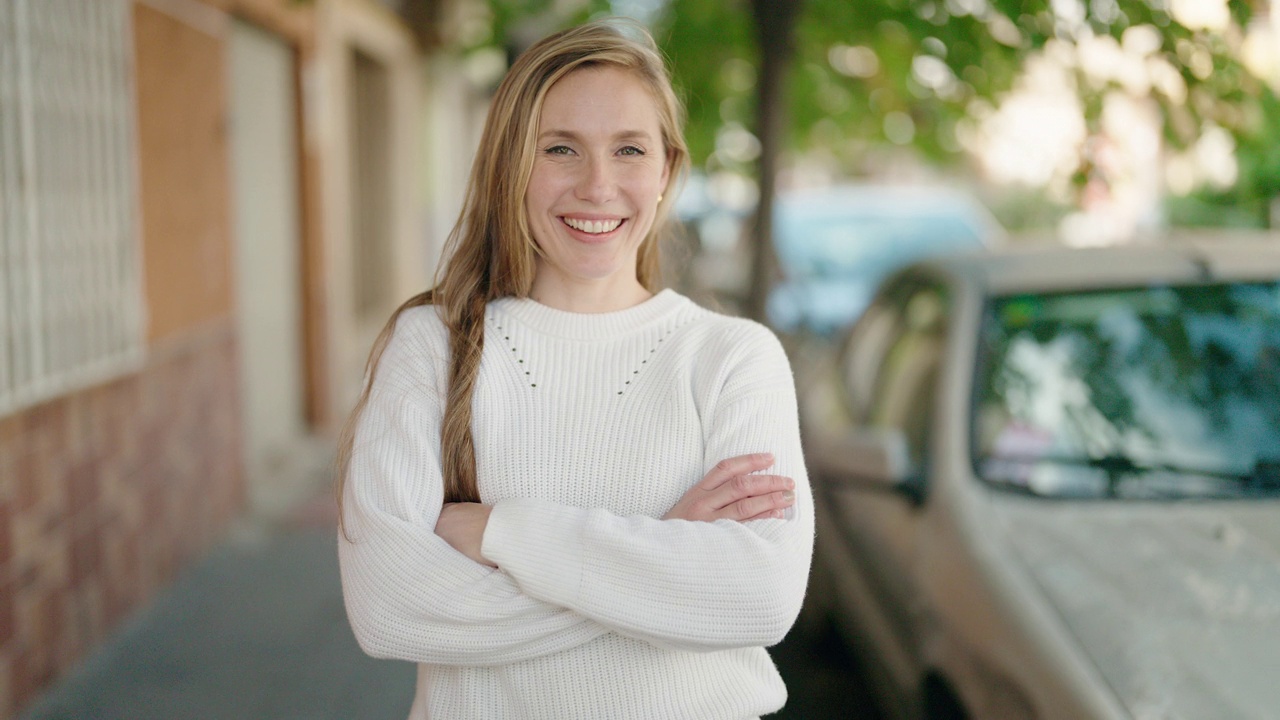
[[[777,338],[673,291],[627,310],[489,304],[472,400],[481,566],[434,534],[447,332],[406,311],[360,418],[339,542],[361,647],[419,662],[411,719],[755,717],[786,701],[764,647],[813,547]],[[660,520],[719,460],[768,451],[785,520]]]

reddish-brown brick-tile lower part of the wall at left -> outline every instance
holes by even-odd
[[[243,506],[239,443],[230,319],[0,419],[0,717],[221,533]]]

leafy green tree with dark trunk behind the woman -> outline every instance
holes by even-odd
[[[428,0],[408,4],[421,3]],[[550,0],[489,0],[488,6],[488,42],[508,51],[520,49],[513,38],[530,23],[541,35],[611,10],[607,0],[582,0],[570,15],[548,19]],[[727,168],[759,183],[749,314],[763,319],[772,286],[772,195],[783,152],[822,150],[850,173],[886,146],[963,163],[964,129],[998,104],[1029,58],[1044,53],[1075,58],[1068,69],[1092,133],[1100,132],[1108,94],[1138,91],[1158,104],[1170,147],[1190,146],[1204,128],[1228,129],[1249,152],[1233,199],[1268,206],[1280,192],[1280,101],[1240,61],[1253,6],[1206,0],[1197,5],[1206,10],[1199,15],[1171,9],[1178,6],[1149,0],[666,0],[654,35],[685,95],[695,165]],[[1137,47],[1151,76],[1134,81],[1100,73],[1088,63],[1092,50],[1082,47]],[[739,138],[749,132],[754,142],[717,147],[726,128]],[[1079,163],[1083,186],[1089,177],[1084,147]]]

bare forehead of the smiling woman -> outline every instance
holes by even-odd
[[[579,68],[556,81],[539,122],[540,132],[659,127],[658,104],[649,86],[632,70],[609,65]]]

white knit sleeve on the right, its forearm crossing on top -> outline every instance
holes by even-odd
[[[614,632],[677,650],[772,646],[794,624],[813,552],[813,500],[795,386],[777,338],[732,364],[704,420],[705,462],[772,452],[795,479],[786,519],[714,523],[622,518],[539,500],[494,506],[483,552],[530,596]]]

